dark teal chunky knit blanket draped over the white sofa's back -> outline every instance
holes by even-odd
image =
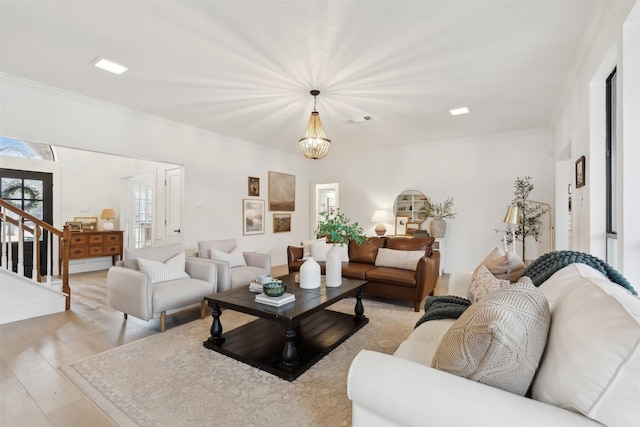
[[[598,270],[610,281],[629,290],[633,295],[638,295],[633,286],[631,286],[622,274],[601,259],[584,252],[555,251],[546,253],[533,261],[522,275],[529,276],[534,285],[540,286],[545,280],[551,277],[553,273],[574,263],[587,264],[589,267]]]

